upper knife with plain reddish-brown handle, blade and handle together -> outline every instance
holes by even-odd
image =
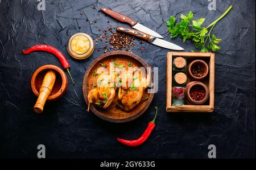
[[[123,15],[123,14],[117,13],[117,12],[115,12],[113,10],[110,10],[110,9],[107,9],[105,7],[102,7],[101,11],[104,12],[105,14],[108,14],[109,16],[112,16],[112,18],[118,20],[119,22],[130,24],[130,26],[133,27],[136,30],[146,32],[147,34],[155,36],[157,38],[163,38],[163,36],[161,36],[157,32],[151,30],[148,27],[143,26],[142,24],[136,22],[135,20],[133,20],[133,19],[131,19],[131,18],[129,18],[129,17]]]

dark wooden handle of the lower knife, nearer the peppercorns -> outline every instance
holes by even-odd
[[[149,34],[146,34],[144,32],[138,31],[138,30],[134,30],[133,28],[117,27],[116,30],[118,32],[123,32],[123,33],[126,33],[126,34],[137,36],[138,38],[146,40],[150,43],[152,43],[152,41],[155,39],[154,36],[151,36]]]

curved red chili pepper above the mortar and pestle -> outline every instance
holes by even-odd
[[[46,51],[46,52],[49,52],[49,53],[52,53],[53,55],[55,55],[60,60],[62,67],[68,71],[68,74],[69,74],[73,84],[75,84],[75,82],[73,81],[73,78],[71,76],[71,73],[69,72],[70,65],[68,63],[68,60],[63,55],[63,53],[61,53],[59,50],[52,47],[51,45],[45,45],[45,44],[34,45],[33,47],[27,49],[26,51],[24,49],[22,49],[22,52],[24,54],[28,54],[33,51]]]

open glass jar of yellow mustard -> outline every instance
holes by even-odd
[[[82,32],[72,35],[67,43],[67,51],[74,59],[86,59],[94,51],[92,37]]]

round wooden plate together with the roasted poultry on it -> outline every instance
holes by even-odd
[[[114,51],[98,57],[84,76],[82,90],[89,105],[87,110],[109,122],[138,118],[154,97],[150,92],[154,90],[151,87],[154,77],[149,68],[130,52]]]

